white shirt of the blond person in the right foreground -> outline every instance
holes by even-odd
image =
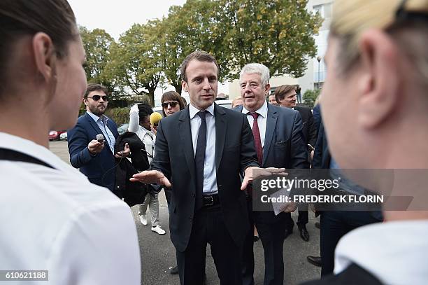
[[[383,284],[425,285],[428,282],[427,236],[427,220],[364,225],[338,242],[334,274],[356,263]]]

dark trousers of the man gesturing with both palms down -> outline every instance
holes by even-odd
[[[185,251],[177,251],[180,284],[203,284],[207,243],[211,246],[220,284],[242,284],[241,250],[224,225],[220,207],[204,207],[195,213],[189,244]]]

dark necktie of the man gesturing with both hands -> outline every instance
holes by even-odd
[[[201,117],[201,126],[198,132],[197,151],[194,155],[194,165],[196,169],[197,193],[195,207],[202,207],[202,193],[204,190],[204,163],[205,163],[205,148],[206,148],[206,111],[199,111],[198,116]]]

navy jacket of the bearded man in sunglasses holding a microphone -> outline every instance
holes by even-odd
[[[107,127],[115,138],[119,136],[117,125],[113,120],[107,121]],[[78,123],[67,131],[69,141],[70,162],[73,167],[79,168],[89,181],[104,186],[111,191],[115,186],[115,157],[110,151],[108,141],[104,140],[104,148],[95,156],[90,155],[87,144],[102,134],[101,129],[88,113],[78,118]],[[114,191],[113,191],[114,192]]]

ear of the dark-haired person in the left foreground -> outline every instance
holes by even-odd
[[[50,82],[52,78],[56,77],[55,62],[57,59],[50,36],[42,32],[35,34],[32,39],[32,49],[38,73],[45,82]]]

